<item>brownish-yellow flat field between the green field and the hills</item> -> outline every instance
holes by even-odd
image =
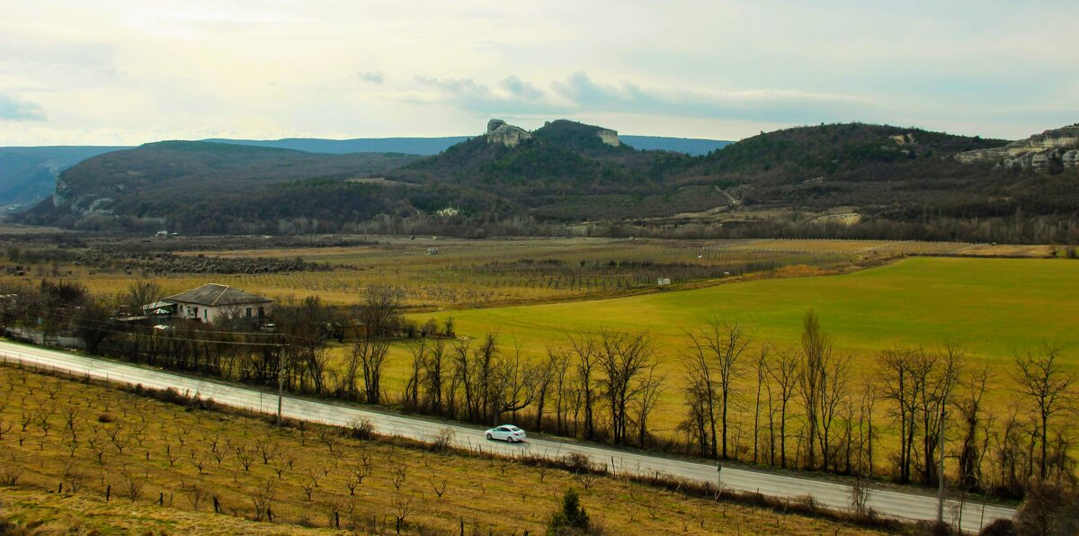
[[[25,266],[23,276],[0,270],[0,283],[32,284],[43,277],[78,279],[95,293],[123,293],[133,277],[153,278],[167,292],[181,292],[206,283],[233,285],[275,299],[318,296],[338,305],[356,303],[371,284],[397,288],[404,303],[412,307],[470,307],[498,304],[554,302],[582,298],[610,298],[647,291],[656,279],[675,285],[738,276],[746,270],[767,272],[774,267],[808,265],[825,271],[843,270],[861,261],[880,261],[911,253],[1013,253],[1000,246],[953,243],[885,240],[664,240],[629,238],[515,238],[464,240],[454,238],[369,237],[365,245],[331,247],[274,247],[261,238],[236,239],[227,249],[205,249],[205,239],[192,238],[96,244],[85,250],[45,248],[51,255],[73,256],[110,251],[111,265],[38,262]],[[265,244],[263,244],[265,243]],[[18,240],[0,243],[9,249],[32,249]],[[258,246],[259,247],[254,247]],[[44,247],[44,245],[42,245]],[[189,249],[188,249],[189,248]],[[437,255],[427,255],[437,248]],[[1044,255],[1039,247],[1023,255]],[[319,263],[331,270],[317,272],[209,274],[144,274],[140,259],[131,251],[167,251],[185,257],[296,259]],[[124,251],[127,251],[125,253]],[[49,258],[47,256],[43,256]],[[25,265],[9,259],[6,266]]]

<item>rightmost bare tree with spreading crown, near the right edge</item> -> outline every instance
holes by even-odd
[[[1015,356],[1015,365],[1019,367],[1017,390],[1037,407],[1041,446],[1038,466],[1041,480],[1048,473],[1050,421],[1068,408],[1071,386],[1076,383],[1076,375],[1066,372],[1057,360],[1060,355],[1058,347],[1046,344],[1036,351]]]

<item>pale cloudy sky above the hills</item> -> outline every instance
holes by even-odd
[[[3,0],[0,146],[1079,122],[1079,2]]]

